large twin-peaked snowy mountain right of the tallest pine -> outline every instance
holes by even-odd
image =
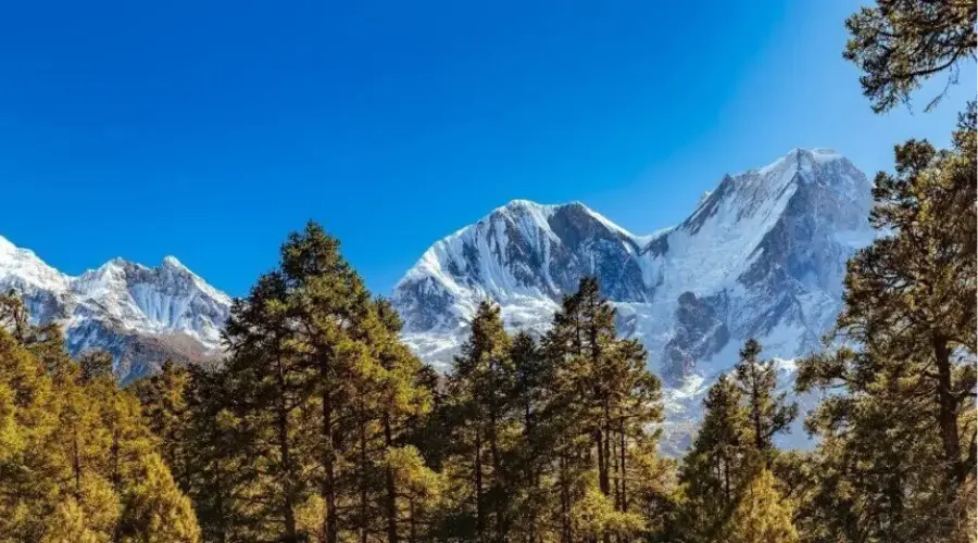
[[[795,149],[725,176],[681,224],[637,236],[580,203],[516,200],[428,249],[394,289],[404,339],[447,364],[478,303],[543,331],[561,296],[595,275],[619,330],[667,384],[674,424],[698,412],[748,338],[790,359],[817,349],[841,308],[845,261],[873,238],[872,182],[842,155]]]

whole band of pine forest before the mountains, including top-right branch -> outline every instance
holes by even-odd
[[[976,7],[879,0],[845,56],[877,111],[975,56]],[[954,77],[951,72],[951,77]],[[598,281],[542,336],[484,302],[447,375],[310,223],[236,300],[227,357],[121,388],[0,296],[0,541],[976,541],[976,111],[950,149],[896,146],[850,261],[805,429],[748,341],[682,458],[657,451],[659,378]]]

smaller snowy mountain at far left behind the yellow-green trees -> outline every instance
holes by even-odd
[[[149,268],[115,258],[72,277],[0,237],[0,291],[21,294],[36,323],[60,323],[73,354],[104,349],[123,381],[166,358],[220,354],[230,299],[173,256]]]

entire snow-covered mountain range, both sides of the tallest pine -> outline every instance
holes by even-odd
[[[689,216],[635,235],[579,202],[514,200],[437,241],[393,289],[404,341],[446,369],[478,303],[510,328],[542,333],[564,294],[597,276],[619,332],[638,338],[666,384],[667,427],[692,428],[705,388],[748,338],[779,361],[817,349],[841,308],[845,262],[873,239],[872,182],[827,149],[794,149],[724,176]],[[230,299],[167,256],[158,267],[113,260],[72,277],[0,238],[0,289],[38,321],[63,324],[73,353],[109,350],[124,381],[166,357],[221,355]],[[674,446],[690,432],[673,431]]]

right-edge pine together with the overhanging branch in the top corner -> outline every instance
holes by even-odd
[[[877,112],[975,58],[974,2],[878,1],[853,15],[845,56]],[[940,98],[940,97],[938,97]],[[931,105],[933,102],[931,102]],[[975,534],[975,105],[954,147],[896,147],[876,178],[879,238],[850,261],[842,345],[798,387],[835,393],[800,509],[812,541],[973,541]]]

